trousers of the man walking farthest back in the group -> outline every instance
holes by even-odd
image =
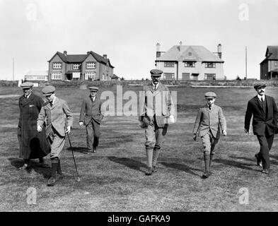
[[[100,138],[100,124],[95,120],[91,121],[86,126],[87,134],[87,148],[88,150],[93,150],[98,146],[98,139]]]

